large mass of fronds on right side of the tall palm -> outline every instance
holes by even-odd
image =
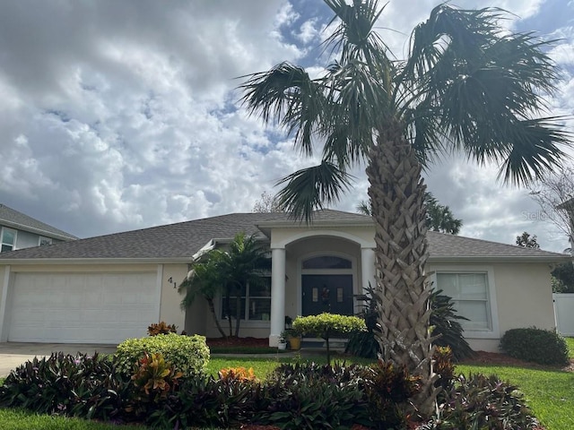
[[[413,31],[400,80],[408,103],[433,116],[413,121],[413,142],[424,147],[444,136],[481,164],[503,162],[506,182],[527,184],[559,165],[570,136],[558,118],[530,119],[544,109],[544,93],[557,77],[544,54],[548,42],[531,33],[501,33],[503,17],[500,9],[439,5]]]

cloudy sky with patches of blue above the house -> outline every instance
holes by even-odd
[[[437,4],[388,2],[377,27],[397,58]],[[501,7],[507,30],[559,39],[549,113],[574,114],[574,1],[456,4]],[[317,73],[330,19],[320,0],[0,2],[0,203],[79,237],[251,211],[313,160],[248,116],[238,77],[282,61]],[[528,190],[500,184],[497,170],[454,154],[424,177],[463,219],[462,236],[513,244],[528,231],[544,249],[566,248]],[[367,199],[364,166],[352,173],[332,209]]]

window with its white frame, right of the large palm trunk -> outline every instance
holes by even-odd
[[[468,319],[459,321],[465,330],[465,337],[500,336],[496,289],[491,267],[437,268],[433,280],[437,289],[452,297],[457,314]]]

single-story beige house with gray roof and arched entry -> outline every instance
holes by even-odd
[[[182,311],[177,287],[194,255],[239,231],[273,258],[266,286],[244,292],[241,336],[275,345],[285,315],[352,314],[354,295],[375,283],[370,217],[317,211],[309,226],[284,213],[196,219],[0,255],[0,341],[116,343],[158,321],[217,337],[203,299]],[[428,240],[430,279],[470,319],[473,348],[497,350],[512,328],[552,329],[551,265],[568,256],[436,232]]]

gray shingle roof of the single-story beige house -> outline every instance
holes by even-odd
[[[313,223],[356,223],[368,226],[370,217],[341,211],[317,211]],[[226,240],[239,231],[264,237],[262,230],[272,226],[297,227],[286,213],[231,213],[212,218],[195,219],[160,227],[143,228],[107,236],[90,237],[49,246],[26,248],[0,255],[0,262],[34,259],[190,259],[212,239]],[[257,226],[266,226],[257,228]],[[505,245],[462,236],[429,232],[431,261],[441,259],[535,258],[561,261],[563,254]]]

